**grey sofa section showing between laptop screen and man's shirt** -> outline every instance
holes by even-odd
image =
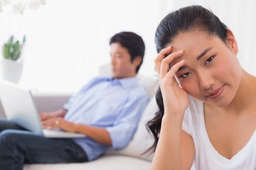
[[[68,101],[72,94],[33,92],[33,97],[40,112],[57,111]]]

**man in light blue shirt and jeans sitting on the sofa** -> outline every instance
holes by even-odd
[[[136,78],[145,45],[139,35],[122,32],[111,38],[110,47],[112,77],[92,79],[63,108],[41,113],[43,128],[60,128],[87,137],[50,139],[1,120],[0,169],[17,170],[23,164],[35,163],[90,162],[107,147],[122,149],[129,143],[149,101]]]

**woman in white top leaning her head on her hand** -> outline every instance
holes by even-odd
[[[159,23],[155,43],[152,169],[256,169],[256,78],[240,66],[232,31],[188,6]]]

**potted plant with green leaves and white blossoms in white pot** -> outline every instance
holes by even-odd
[[[38,9],[46,4],[46,0],[0,0],[1,26],[3,37],[9,38],[6,42],[1,42],[0,72],[2,79],[18,83],[23,70],[23,45],[26,42],[26,36],[22,38],[20,28],[24,11],[26,9]],[[4,38],[4,39],[5,39]]]

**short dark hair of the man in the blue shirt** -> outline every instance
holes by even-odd
[[[115,42],[119,43],[122,47],[128,50],[129,55],[131,55],[131,62],[133,62],[135,57],[142,57],[143,62],[145,44],[141,36],[132,32],[121,32],[115,34],[110,39],[110,45]],[[136,68],[136,73],[139,72],[139,68],[141,67],[142,62]]]

